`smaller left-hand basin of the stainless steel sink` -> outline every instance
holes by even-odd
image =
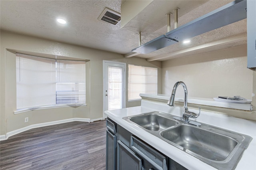
[[[150,131],[162,131],[178,124],[177,121],[163,117],[158,112],[130,117],[130,121]]]

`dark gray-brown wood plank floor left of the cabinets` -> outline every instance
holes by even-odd
[[[0,142],[1,170],[104,170],[106,122],[31,129]]]

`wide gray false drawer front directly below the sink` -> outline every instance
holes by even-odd
[[[147,160],[157,170],[167,170],[167,157],[140,141],[135,136],[131,136],[131,149],[143,159]]]

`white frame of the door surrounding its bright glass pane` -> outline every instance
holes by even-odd
[[[106,76],[105,76],[105,70],[106,70],[106,64],[113,64],[112,66],[115,66],[115,64],[121,64],[124,65],[124,77],[122,78],[124,89],[123,89],[123,95],[122,95],[122,108],[126,107],[126,63],[116,62],[116,61],[108,61],[103,60],[103,119],[106,119],[104,115],[104,111],[106,108],[106,100],[105,100],[105,90],[106,90]],[[116,65],[116,67],[118,67]]]

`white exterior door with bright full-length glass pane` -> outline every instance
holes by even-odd
[[[125,70],[126,63],[103,61],[103,112],[125,108]]]

